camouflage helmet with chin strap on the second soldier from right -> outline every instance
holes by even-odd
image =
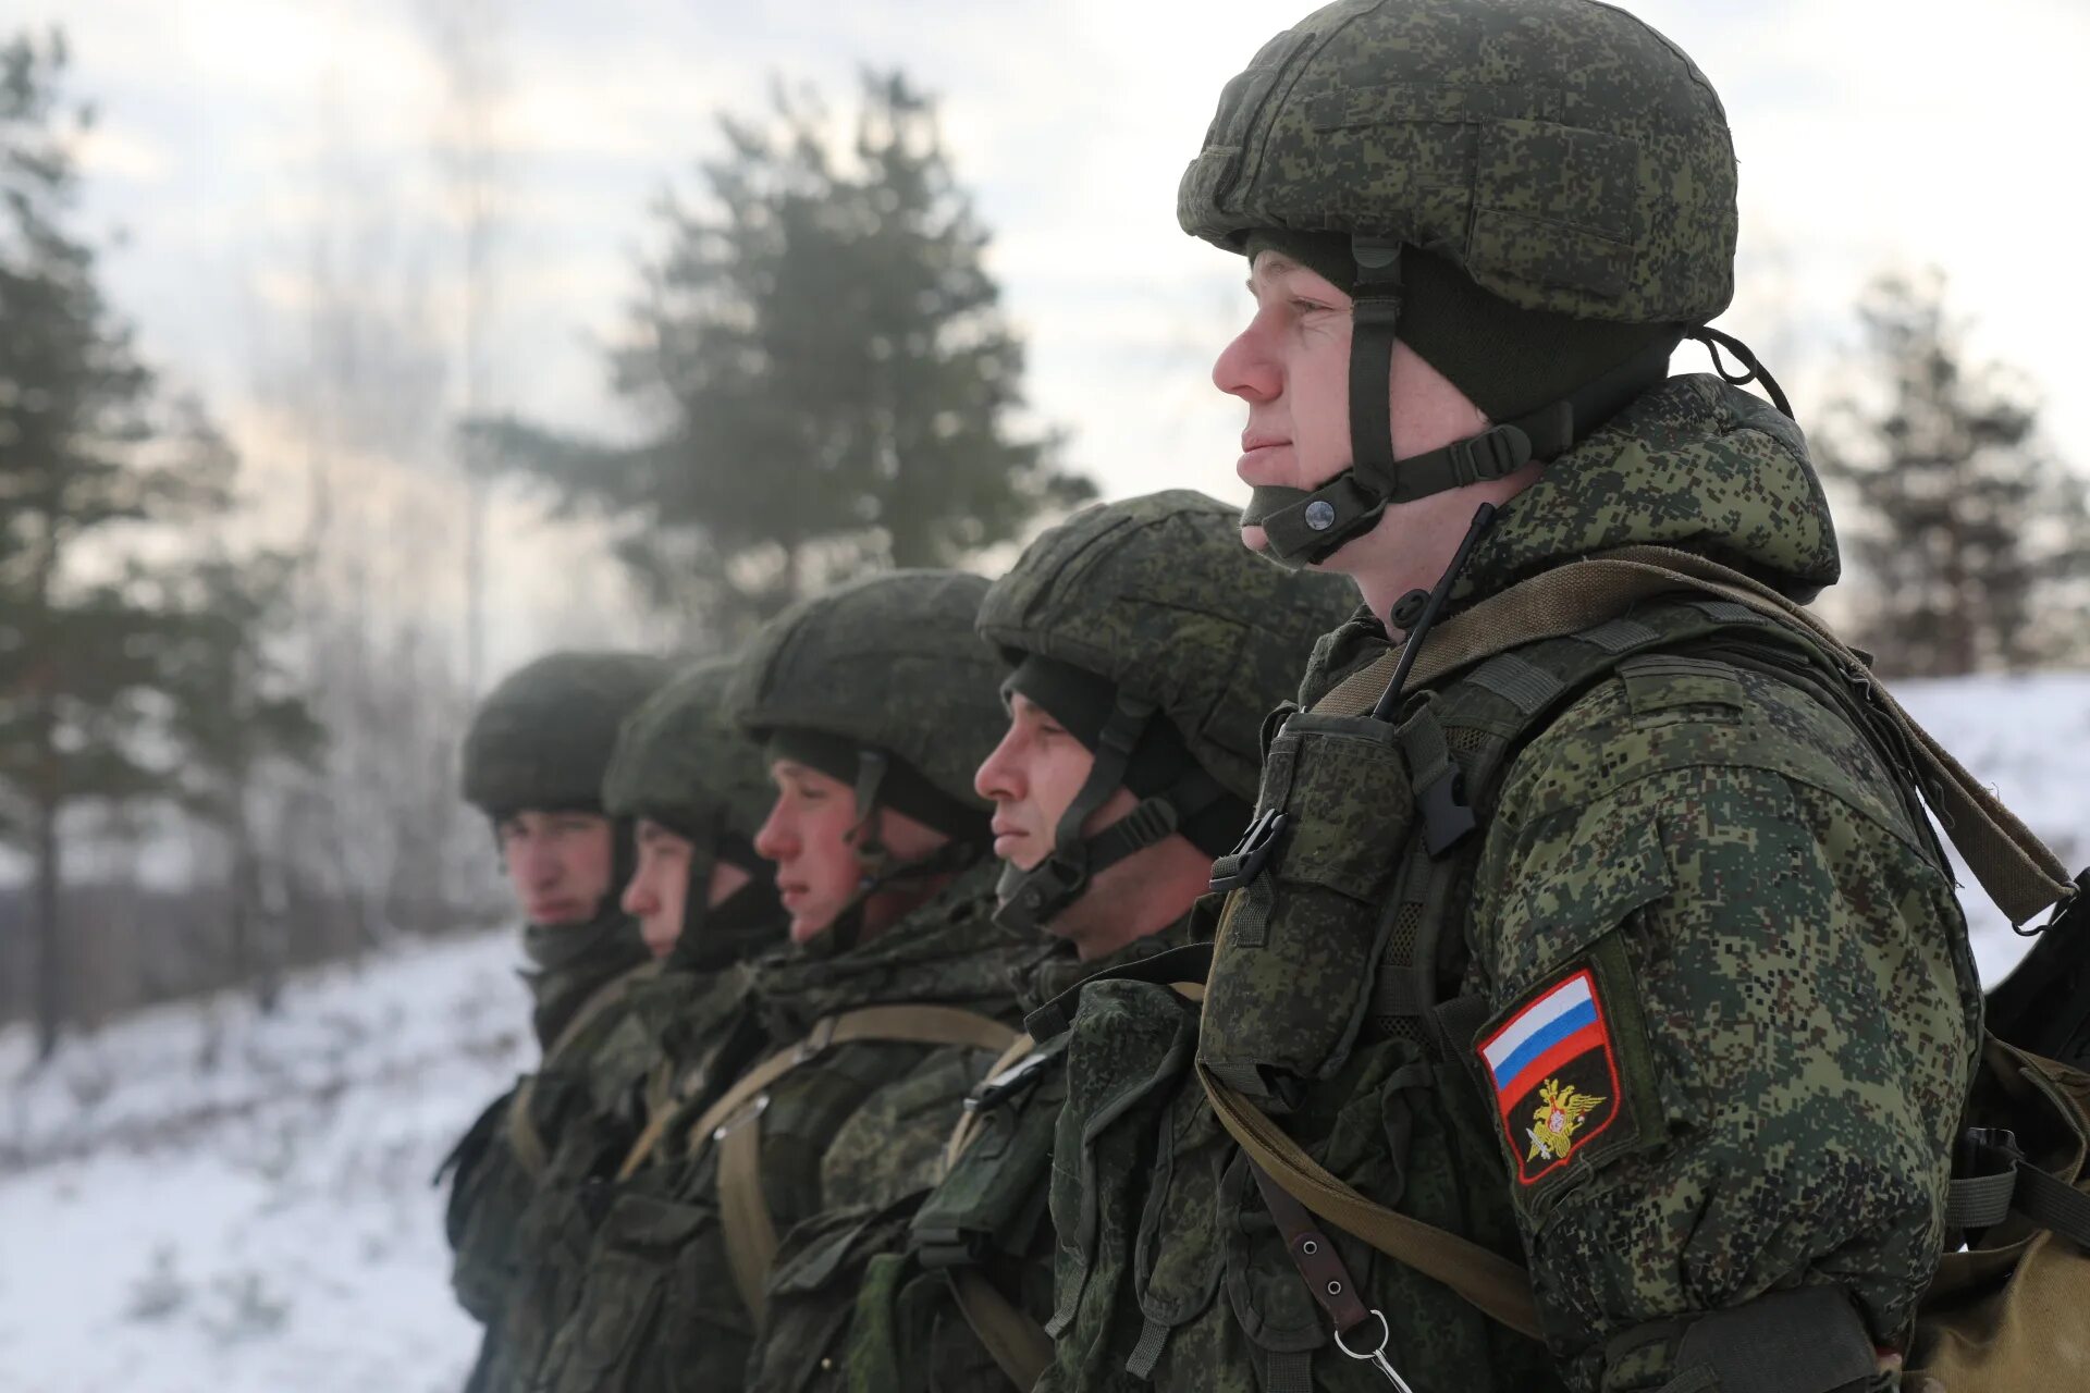
[[[1354,608],[1342,576],[1254,558],[1233,510],[1202,493],[1104,503],[1032,541],[986,591],[978,631],[1014,668],[1009,687],[1095,764],[1047,858],[1003,871],[1001,921],[1037,929],[1091,875],[1177,831],[1227,850],[1256,800],[1262,718]],[[1141,802],[1083,837],[1120,785]]]

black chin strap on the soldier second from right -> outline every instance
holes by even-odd
[[[1089,890],[1089,881],[1099,871],[1166,840],[1177,827],[1225,796],[1212,775],[1191,764],[1181,779],[1160,794],[1141,798],[1139,806],[1110,827],[1093,837],[1081,835],[1083,825],[1124,783],[1124,771],[1131,766],[1133,752],[1156,710],[1154,702],[1118,693],[1110,718],[1104,721],[1104,729],[1095,737],[1095,762],[1089,766],[1089,777],[1053,827],[1051,850],[1028,871],[1014,863],[1001,867],[1001,881],[995,888],[999,900],[995,923],[1003,929],[1024,936],[1039,934]]]

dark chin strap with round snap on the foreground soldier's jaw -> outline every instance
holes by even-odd
[[[1356,297],[1350,330],[1350,468],[1319,489],[1258,485],[1241,522],[1269,537],[1267,556],[1283,566],[1315,566],[1379,524],[1388,503],[1411,503],[1515,474],[1532,459],[1553,459],[1590,434],[1668,372],[1672,340],[1662,340],[1588,386],[1442,449],[1394,457],[1390,382],[1394,330],[1400,324],[1400,244],[1352,236]]]

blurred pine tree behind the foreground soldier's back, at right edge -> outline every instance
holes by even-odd
[[[2057,620],[2080,614],[2090,512],[2029,393],[1969,361],[1935,271],[1877,280],[1858,315],[1875,399],[1837,401],[1814,441],[1822,476],[1862,503],[1848,541],[1875,599],[1858,643],[1904,677],[2080,656],[2080,624]]]

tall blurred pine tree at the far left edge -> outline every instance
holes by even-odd
[[[67,228],[92,115],[61,100],[65,65],[56,36],[0,48],[0,804],[36,865],[44,1055],[71,996],[65,814],[180,794],[178,675],[213,643],[138,543],[222,516],[236,470],[199,407],[161,403]]]

